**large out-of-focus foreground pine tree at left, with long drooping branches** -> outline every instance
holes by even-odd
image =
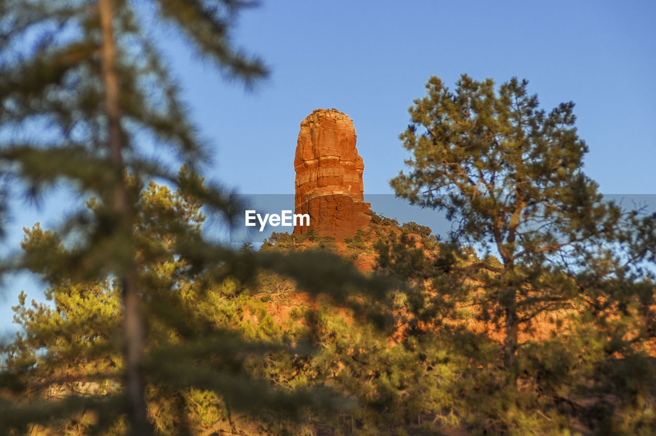
[[[230,27],[250,3],[149,4],[159,22],[176,28],[228,76],[246,85],[266,76],[262,62],[230,43]],[[199,316],[185,297],[207,298],[229,283],[239,294],[258,268],[291,275],[311,292],[347,295],[354,286],[377,287],[334,257],[233,251],[199,232],[198,207],[230,219],[228,198],[197,176],[207,160],[205,149],[157,45],[148,39],[140,5],[0,4],[3,176],[35,196],[63,182],[89,200],[89,209],[56,232],[28,230],[24,253],[3,266],[41,274],[54,301],[54,309],[36,304],[28,309],[22,296],[16,308],[26,332],[4,350],[2,380],[9,390],[2,391],[3,433],[77,422],[79,433],[123,433],[127,426],[130,434],[147,435],[160,422],[156,414],[164,399],[173,410],[176,392],[190,389],[207,391],[228,408],[293,415],[326,397],[283,395],[241,371],[244,360],[266,353],[271,344],[245,340]],[[158,150],[178,157],[183,170],[175,173],[145,157],[138,141],[144,133]],[[175,186],[177,194],[144,189],[142,183],[152,179]],[[84,389],[42,401],[56,397],[65,383]],[[154,397],[158,392],[162,395]],[[89,412],[95,418],[82,422]],[[167,431],[188,431],[185,413]]]

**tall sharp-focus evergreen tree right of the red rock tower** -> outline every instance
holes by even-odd
[[[459,244],[500,255],[502,265],[462,268],[491,273],[478,301],[483,318],[504,326],[507,368],[514,366],[520,326],[594,288],[579,280],[584,272],[635,281],[644,274],[640,260],[649,250],[653,257],[644,247],[655,240],[654,217],[640,221],[637,212],[604,202],[581,170],[588,149],[574,127],[574,104],[547,113],[526,88],[527,81],[513,78],[497,90],[491,79],[463,75],[451,92],[431,77],[400,135],[413,154],[406,161],[411,171],[391,181],[401,198],[455,219]],[[634,238],[642,241],[638,251]],[[627,254],[627,262],[618,248],[637,254]]]

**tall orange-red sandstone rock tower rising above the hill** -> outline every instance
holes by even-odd
[[[353,121],[335,109],[314,110],[300,123],[295,213],[308,213],[310,226],[297,226],[295,233],[314,229],[343,240],[369,223],[356,138]]]

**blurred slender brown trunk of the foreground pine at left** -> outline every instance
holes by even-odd
[[[117,236],[131,240],[133,213],[127,187],[123,179],[123,160],[121,158],[121,114],[119,110],[119,81],[115,70],[116,47],[112,35],[112,0],[99,0],[100,25],[102,27],[102,78],[105,85],[105,109],[108,118],[108,142],[110,161],[113,163],[114,189],[111,207],[117,218]],[[130,433],[134,436],[152,433],[146,401],[144,399],[144,380],[140,365],[144,349],[144,320],[139,307],[137,292],[136,264],[134,250],[127,265],[120,265],[121,285],[123,286],[123,329],[125,334],[125,389],[127,393]]]

